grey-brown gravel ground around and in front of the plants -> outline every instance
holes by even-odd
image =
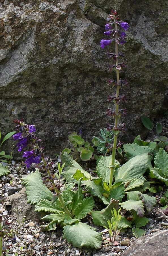
[[[10,170],[10,174],[3,176],[0,179],[0,197],[3,196],[6,200],[9,195],[18,193],[24,187],[21,178],[30,173],[30,170],[27,170],[23,162],[16,164],[12,161],[12,164],[8,169]],[[34,221],[34,219],[26,220],[25,216],[22,222],[20,222],[17,218],[17,210],[15,211],[15,214],[12,215],[11,210],[5,208],[5,203],[0,204],[0,214],[3,214],[10,222],[10,233],[8,234],[8,237],[4,239],[4,244],[10,245],[10,249],[7,249],[6,251],[7,256],[120,256],[134,241],[136,241],[136,238],[132,236],[131,229],[128,229],[125,233],[120,233],[118,235],[117,243],[114,246],[113,243],[109,241],[108,232],[105,232],[106,230],[101,228],[97,228],[97,231],[103,231],[102,247],[98,250],[80,249],[73,247],[63,239],[61,228],[57,228],[54,232],[42,232],[40,228],[42,224],[40,216],[37,221]],[[155,207],[147,217],[150,221],[144,227],[146,234],[167,229],[168,216],[165,216],[158,206]]]

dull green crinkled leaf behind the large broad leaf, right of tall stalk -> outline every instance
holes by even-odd
[[[148,146],[139,146],[136,143],[125,144],[123,145],[123,148],[124,148],[124,151],[126,152],[125,156],[127,156],[128,159],[131,159],[135,156],[138,156],[144,153],[152,154],[152,148],[149,148]]]

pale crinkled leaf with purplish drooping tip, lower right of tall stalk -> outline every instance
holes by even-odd
[[[144,205],[141,200],[135,201],[135,200],[127,200],[126,202],[119,203],[119,205],[123,208],[126,209],[127,211],[134,210],[139,217],[143,217],[145,212],[144,212]]]

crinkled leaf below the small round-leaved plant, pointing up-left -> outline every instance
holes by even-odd
[[[61,160],[63,163],[66,163],[65,171],[62,172],[62,175],[66,178],[66,181],[68,183],[76,182],[76,180],[73,178],[73,175],[76,173],[77,170],[80,170],[84,176],[88,179],[91,179],[91,175],[86,172],[75,160],[71,158],[66,152],[61,154]]]

